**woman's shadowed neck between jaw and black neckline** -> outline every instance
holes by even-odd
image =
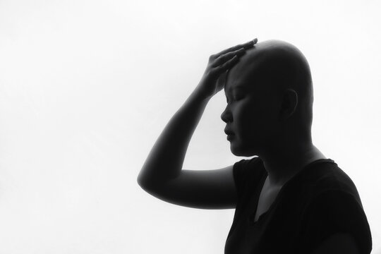
[[[295,145],[278,145],[271,151],[258,155],[264,163],[270,185],[283,186],[310,162],[325,159],[312,142],[293,144]]]

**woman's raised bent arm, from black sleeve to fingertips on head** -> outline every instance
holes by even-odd
[[[236,203],[233,167],[208,171],[182,170],[189,142],[207,102],[224,84],[217,82],[255,42],[237,45],[210,56],[200,83],[172,116],[152,147],[138,176],[151,195],[198,208],[232,208]]]

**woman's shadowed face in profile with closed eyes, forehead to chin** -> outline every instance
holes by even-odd
[[[239,63],[238,63],[239,64]],[[271,149],[279,133],[278,104],[274,89],[259,78],[250,77],[245,68],[234,68],[226,76],[226,123],[230,149],[234,155],[250,157]],[[248,75],[250,74],[250,75]]]

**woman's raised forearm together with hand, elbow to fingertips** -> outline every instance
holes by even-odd
[[[238,44],[210,56],[200,83],[172,116],[145,160],[138,176],[142,188],[155,192],[158,187],[181,174],[186,150],[207,102],[224,88],[224,82],[219,82],[219,78],[256,42]]]

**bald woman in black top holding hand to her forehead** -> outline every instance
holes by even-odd
[[[169,121],[138,183],[155,197],[204,209],[236,208],[225,253],[370,253],[356,186],[313,145],[313,83],[293,45],[239,44],[210,56],[200,83]],[[231,152],[223,169],[182,169],[210,98],[224,88]]]

